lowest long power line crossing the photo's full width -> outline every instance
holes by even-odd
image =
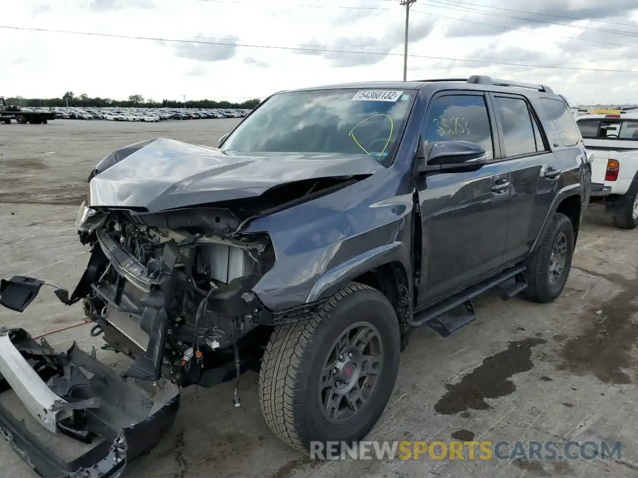
[[[37,32],[43,32],[43,33],[63,33],[63,34],[73,34],[73,35],[98,36],[103,38],[120,38],[122,40],[166,41],[168,43],[182,43],[182,44],[190,43],[190,44],[196,44],[196,45],[199,44],[199,45],[214,45],[214,46],[226,46],[226,47],[263,48],[263,49],[288,50],[288,51],[297,51],[297,52],[325,52],[325,53],[343,53],[343,54],[353,54],[353,55],[403,56],[403,54],[400,54],[400,53],[353,51],[353,50],[345,50],[341,47],[334,47],[335,49],[330,49],[327,47],[304,48],[304,47],[283,47],[283,46],[274,46],[274,45],[249,45],[246,43],[237,43],[231,39],[219,39],[219,41],[178,40],[173,38],[161,38],[161,37],[151,37],[151,36],[133,36],[133,35],[119,35],[119,34],[113,34],[113,33],[96,33],[96,32],[82,32],[82,31],[71,31],[71,30],[57,30],[57,29],[48,29],[48,28],[17,27],[13,25],[0,25],[0,29],[8,29],[8,30],[14,30],[14,31],[37,31]],[[211,38],[211,40],[214,40],[214,39]],[[522,66],[524,68],[565,69],[565,70],[572,70],[572,71],[600,71],[600,72],[607,72],[607,73],[638,73],[638,71],[634,71],[631,69],[584,68],[584,67],[576,67],[576,66],[538,65],[538,64],[507,62],[507,61],[471,60],[471,59],[463,59],[463,58],[438,57],[438,56],[431,56],[431,55],[415,55],[415,54],[410,54],[408,56],[413,58],[423,58],[423,59],[431,59],[431,60],[459,61],[459,62],[479,63],[479,64],[489,64],[489,65],[503,65],[503,66]]]

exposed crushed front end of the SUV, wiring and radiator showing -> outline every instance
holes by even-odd
[[[239,224],[218,208],[110,210],[85,237],[99,263],[85,310],[108,348],[135,358],[126,375],[212,385],[235,375],[235,347],[240,371],[254,361],[264,334],[250,291],[275,256],[267,234]]]

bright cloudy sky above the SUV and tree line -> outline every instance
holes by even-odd
[[[399,0],[2,3],[2,96],[242,100],[403,76]],[[572,103],[638,103],[637,20],[638,0],[417,0],[408,78],[491,75]]]

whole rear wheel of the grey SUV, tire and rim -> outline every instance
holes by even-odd
[[[551,302],[563,292],[574,256],[574,228],[556,213],[537,248],[527,260],[528,287],[523,296],[534,302]]]

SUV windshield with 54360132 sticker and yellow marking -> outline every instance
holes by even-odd
[[[246,117],[222,148],[366,154],[388,166],[415,93],[339,89],[276,94]]]

